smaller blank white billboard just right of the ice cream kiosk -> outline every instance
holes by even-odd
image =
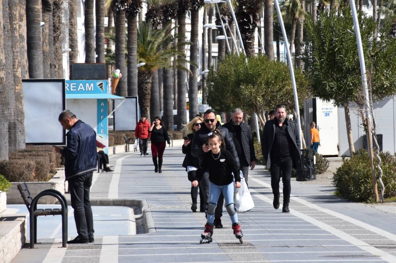
[[[121,102],[114,100],[114,108]],[[114,131],[135,131],[137,122],[137,96],[125,97],[125,101],[114,112]]]

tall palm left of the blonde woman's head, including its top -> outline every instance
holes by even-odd
[[[178,0],[179,6],[177,9],[177,25],[179,25],[177,29],[177,35],[179,42],[185,43],[186,41],[186,15],[187,11],[191,9],[191,1],[190,0]],[[183,60],[183,54],[185,54],[185,45],[177,44],[179,52],[177,56],[177,60]],[[183,129],[183,124],[186,123],[187,114],[186,114],[186,75],[185,72],[181,69],[183,67],[182,64],[179,64],[179,68],[177,69],[177,129]]]

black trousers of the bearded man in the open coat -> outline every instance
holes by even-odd
[[[282,177],[283,183],[283,202],[290,201],[290,178],[291,178],[291,168],[293,167],[293,162],[290,156],[284,158],[272,158],[271,157],[271,187],[272,193],[277,195],[279,193],[279,182],[280,177]]]

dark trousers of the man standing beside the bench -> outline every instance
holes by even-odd
[[[92,185],[93,172],[70,178],[69,193],[71,205],[74,209],[74,221],[78,237],[82,239],[93,238],[93,215],[91,202],[89,202],[89,189]]]

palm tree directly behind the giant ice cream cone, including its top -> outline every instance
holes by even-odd
[[[129,8],[130,0],[107,0],[106,8],[112,8],[115,15],[115,64],[116,68],[122,73],[122,78],[118,82],[116,94],[128,96],[127,79],[128,72],[125,66],[125,14]]]

